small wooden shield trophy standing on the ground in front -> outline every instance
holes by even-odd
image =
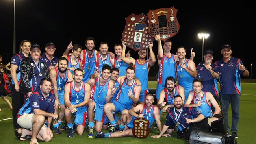
[[[134,128],[132,129],[132,133],[137,138],[145,138],[149,134],[149,121],[145,118],[136,118],[133,121]]]

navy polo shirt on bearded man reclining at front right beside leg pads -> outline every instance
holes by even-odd
[[[178,119],[178,126],[177,126],[179,131],[182,131],[189,125],[186,123],[187,120],[185,118],[193,119],[201,114],[198,111],[196,111],[195,108],[192,108],[192,107],[183,107],[181,114],[177,110],[175,110],[175,112],[176,112],[176,116],[174,113],[174,108],[169,109],[168,114],[166,115],[165,126],[170,126],[171,124],[177,124],[177,118],[180,115],[180,118]]]

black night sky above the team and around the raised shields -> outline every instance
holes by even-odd
[[[206,1],[184,1],[183,4],[172,1],[166,1],[168,4],[135,2],[107,4],[98,1],[16,0],[16,50],[18,52],[24,39],[40,44],[41,53],[45,51],[47,42],[54,42],[55,55],[61,57],[71,40],[84,49],[85,39],[94,37],[96,50],[100,42],[105,41],[109,44],[109,51],[114,52],[114,44],[121,43],[126,17],[132,13],[147,15],[149,9],[174,6],[178,9],[180,31],[169,39],[173,42],[171,53],[176,54],[178,46],[185,46],[188,58],[193,48],[197,65],[202,59],[202,39],[198,39],[197,35],[200,32],[209,33],[210,37],[204,41],[204,50],[213,50],[213,61],[221,58],[221,46],[230,44],[232,56],[241,59],[249,72],[252,63],[252,78],[256,78],[255,54],[252,52],[255,48],[255,5],[242,2],[223,4],[223,1],[207,4]],[[6,64],[13,54],[13,0],[0,0],[0,37],[0,55]],[[153,49],[157,55],[156,41]],[[131,54],[138,58],[134,51]],[[156,76],[157,73],[156,62],[149,76]]]

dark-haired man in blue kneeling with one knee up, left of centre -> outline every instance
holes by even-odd
[[[89,79],[87,83],[91,85],[91,95],[90,100],[87,105],[88,107],[88,124],[89,124],[89,133],[88,138],[93,138],[93,111],[94,111],[94,120],[95,120],[95,131],[97,133],[101,132],[103,129],[108,128],[107,117],[103,111],[103,107],[108,103],[113,97],[116,88],[113,88],[114,84],[109,79],[111,67],[107,64],[102,66],[100,78]],[[115,90],[112,90],[115,89]]]

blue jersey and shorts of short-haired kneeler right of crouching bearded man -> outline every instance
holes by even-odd
[[[74,81],[70,82],[70,93],[69,93],[69,100],[72,105],[77,105],[79,103],[82,103],[84,101],[85,96],[85,82],[81,81],[81,89],[75,90]],[[78,100],[78,101],[77,101]],[[74,123],[76,125],[80,124],[82,126],[85,126],[85,121],[87,118],[87,107],[86,105],[82,107],[76,108],[76,120]]]

